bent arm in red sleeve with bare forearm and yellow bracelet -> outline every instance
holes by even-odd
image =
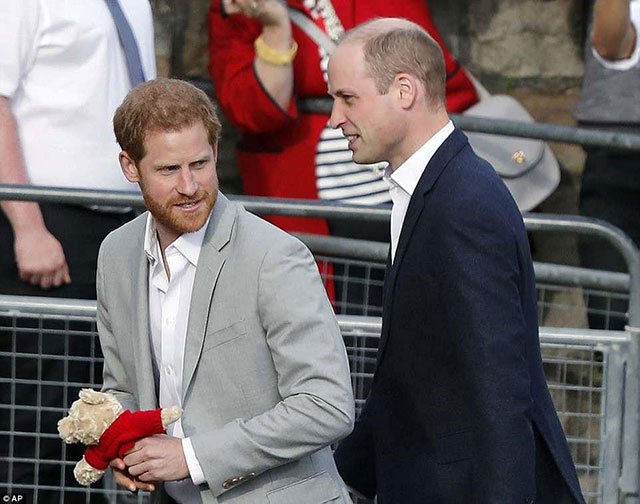
[[[254,42],[262,36],[268,47],[291,48],[291,22],[276,0],[258,3],[259,14],[247,15],[249,0],[214,0],[209,11],[209,72],[216,98],[230,121],[249,133],[268,133],[297,117],[292,63],[273,65],[257,57]],[[246,10],[242,11],[240,5]],[[234,13],[235,12],[235,13]]]

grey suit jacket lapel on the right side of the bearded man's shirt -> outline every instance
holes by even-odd
[[[187,339],[184,349],[183,401],[187,396],[193,373],[200,360],[205,330],[209,320],[211,298],[226,259],[226,254],[221,251],[231,239],[236,216],[236,205],[231,203],[222,193],[219,193],[204,235],[193,282],[189,322],[187,324]]]

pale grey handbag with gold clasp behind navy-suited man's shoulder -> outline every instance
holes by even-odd
[[[509,95],[479,92],[480,101],[463,115],[533,123],[533,117]],[[558,160],[541,140],[465,132],[475,153],[487,160],[511,192],[520,211],[542,203],[560,183]]]

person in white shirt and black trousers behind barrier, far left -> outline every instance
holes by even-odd
[[[130,190],[118,176],[119,150],[111,129],[113,113],[132,87],[119,31],[107,5],[113,1],[0,2],[0,184]],[[118,2],[137,41],[144,75],[153,78],[149,2]],[[10,295],[95,299],[98,247],[110,231],[134,217],[131,209],[59,203],[0,201],[0,209],[0,294]],[[75,343],[74,357],[99,357],[90,345],[85,349]],[[9,343],[5,338],[1,344]],[[35,333],[23,335],[21,344],[25,352],[38,351]],[[64,339],[48,338],[44,351],[64,354]],[[54,383],[42,396],[36,385],[19,389],[15,431],[29,434],[15,438],[14,456],[36,462],[13,464],[9,483],[61,484],[59,466],[37,462],[59,460],[60,443],[53,436],[38,437],[36,452],[34,442],[34,430],[56,432],[55,419],[43,414],[37,421],[29,408],[68,406],[63,403],[64,387],[59,385],[64,365],[52,359],[20,361],[22,376],[40,376],[45,383]],[[74,362],[69,379],[90,383],[93,365]],[[10,404],[9,385],[2,387],[0,395],[3,404]],[[21,405],[26,408],[22,410]],[[34,438],[29,439],[31,433]],[[68,455],[71,460],[80,453],[74,450]],[[39,502],[58,502],[57,495],[33,490]],[[64,500],[76,498],[84,502],[86,496],[68,493]]]

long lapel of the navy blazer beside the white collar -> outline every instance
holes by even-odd
[[[393,306],[393,294],[395,292],[396,278],[398,271],[402,266],[402,260],[407,251],[409,241],[413,234],[413,229],[422,214],[425,203],[425,195],[431,191],[436,181],[446,168],[449,161],[467,144],[467,137],[458,128],[447,137],[442,145],[429,160],[418,185],[416,186],[407,214],[402,223],[402,230],[398,238],[398,247],[396,249],[395,258],[392,265],[387,266],[384,288],[384,303],[382,309],[382,334],[380,337],[380,345],[378,346],[378,363],[382,359],[384,348],[389,338],[389,322],[391,319],[391,310]]]

